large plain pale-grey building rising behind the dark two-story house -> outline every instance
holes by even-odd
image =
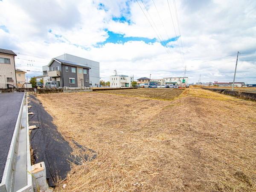
[[[86,58],[77,57],[75,55],[70,55],[67,53],[55,58],[62,59],[65,61],[72,61],[81,65],[84,65],[86,67],[90,67],[90,73],[89,73],[90,86],[92,87],[99,86],[99,62],[92,61]]]

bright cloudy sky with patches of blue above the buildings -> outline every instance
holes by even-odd
[[[186,76],[256,83],[255,0],[0,0],[0,48],[41,75],[64,53],[100,62],[100,77]]]

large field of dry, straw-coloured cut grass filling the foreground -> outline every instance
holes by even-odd
[[[38,96],[66,140],[98,153],[55,191],[256,191],[256,102],[199,88],[172,101],[131,91]]]

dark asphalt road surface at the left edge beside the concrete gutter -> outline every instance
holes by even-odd
[[[0,93],[0,183],[24,93]]]

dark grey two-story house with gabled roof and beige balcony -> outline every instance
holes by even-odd
[[[48,67],[48,76],[56,81],[57,87],[90,87],[90,67],[57,58],[52,58]]]

